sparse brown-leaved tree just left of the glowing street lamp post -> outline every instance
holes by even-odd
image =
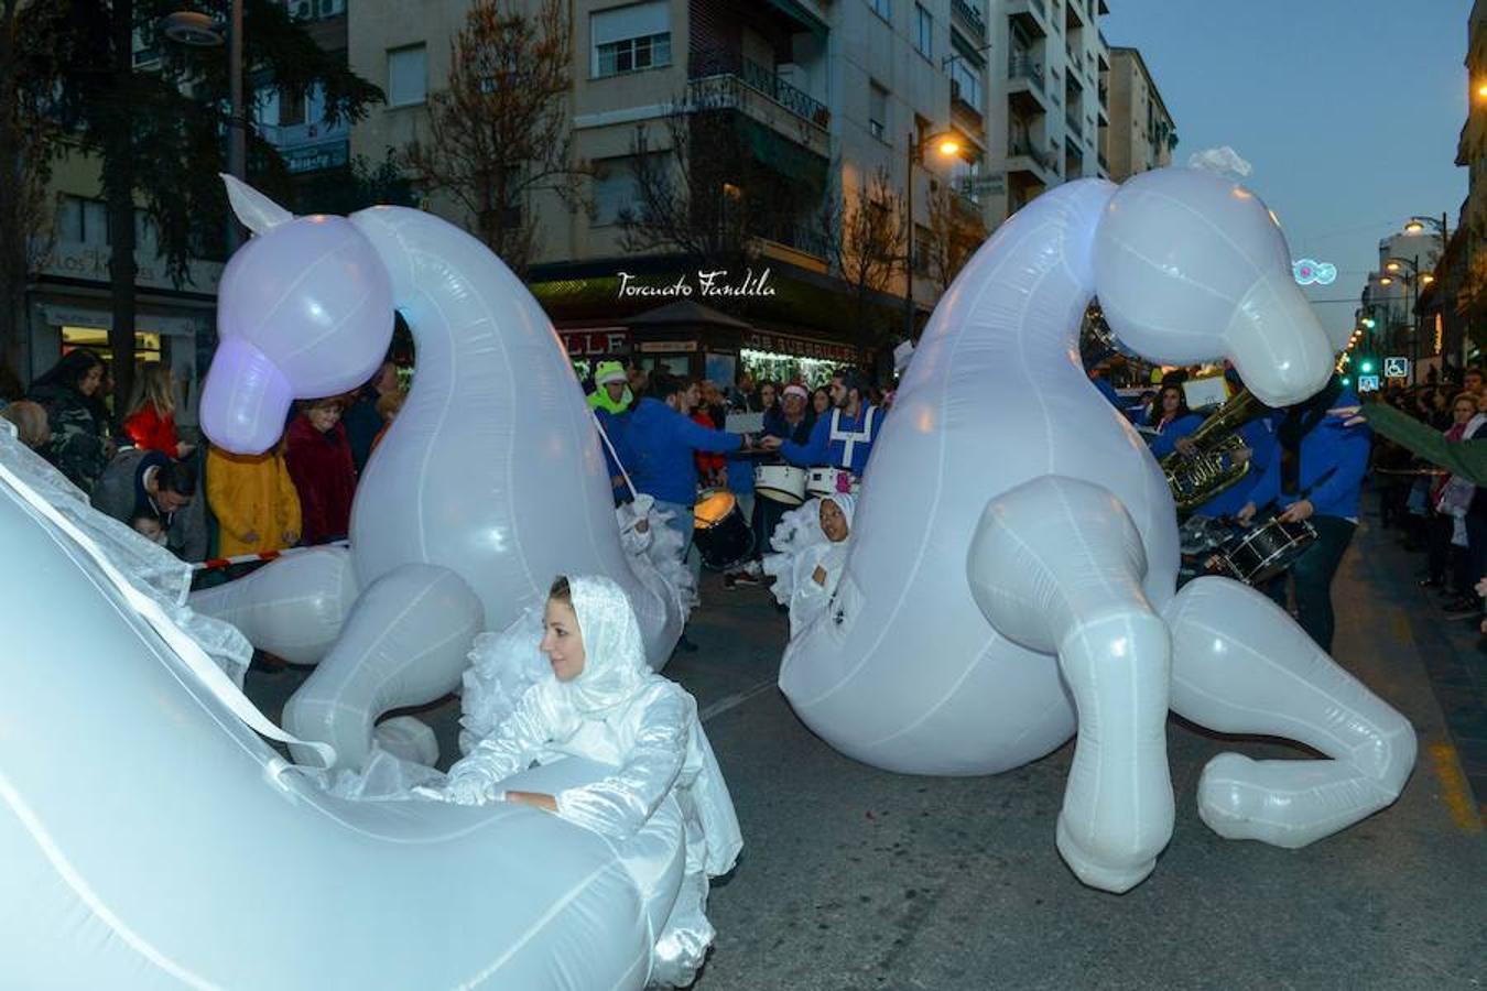
[[[871,346],[885,343],[895,327],[894,321],[876,319],[880,308],[874,300],[888,291],[894,272],[904,264],[909,230],[904,205],[888,168],[879,166],[870,177],[858,175],[845,195],[833,190],[816,220],[831,269],[851,290],[855,325]]]

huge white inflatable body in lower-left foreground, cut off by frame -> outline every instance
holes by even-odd
[[[644,987],[641,896],[601,836],[516,804],[320,793],[18,492],[0,481],[24,563],[0,575],[6,987]]]

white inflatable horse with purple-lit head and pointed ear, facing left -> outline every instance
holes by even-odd
[[[254,646],[320,664],[286,728],[363,767],[381,713],[454,691],[474,636],[541,609],[559,574],[620,582],[660,669],[686,617],[630,569],[583,394],[516,276],[416,209],[294,218],[228,187],[257,236],[222,279],[201,410],[214,444],[263,452],[294,398],[366,382],[394,309],[416,349],[413,388],[357,486],[349,551],[286,557],[192,597]]]

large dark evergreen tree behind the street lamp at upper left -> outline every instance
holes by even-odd
[[[324,94],[326,120],[358,120],[382,92],[320,49],[272,0],[244,3],[244,65],[268,76],[290,98],[312,88]],[[216,241],[229,217],[219,172],[226,171],[229,128],[228,59],[222,49],[171,45],[161,19],[178,0],[52,0],[65,21],[51,43],[62,67],[52,113],[68,131],[68,146],[101,159],[107,201],[113,321],[114,394],[128,395],[134,376],[134,322],[138,275],[134,261],[135,204],[143,201],[167,270],[190,282],[189,264]],[[152,70],[135,70],[135,37],[159,46]],[[247,114],[251,117],[251,114]],[[277,149],[245,122],[248,181],[286,195],[288,174]],[[116,413],[122,413],[122,403]]]

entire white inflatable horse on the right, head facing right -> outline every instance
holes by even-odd
[[[1289,266],[1264,204],[1193,169],[1066,183],[999,227],[915,351],[828,617],[785,651],[779,683],[801,721],[849,756],[925,774],[1017,767],[1078,722],[1059,850],[1114,891],[1170,836],[1169,704],[1329,758],[1215,759],[1204,817],[1224,835],[1310,839],[1392,802],[1413,767],[1408,724],[1252,590],[1173,597],[1172,496],[1078,364],[1097,294],[1135,352],[1228,358],[1267,404],[1301,401],[1332,352]],[[1206,623],[1224,614],[1212,603],[1262,623],[1225,624],[1213,646],[1184,608],[1200,597]]]

